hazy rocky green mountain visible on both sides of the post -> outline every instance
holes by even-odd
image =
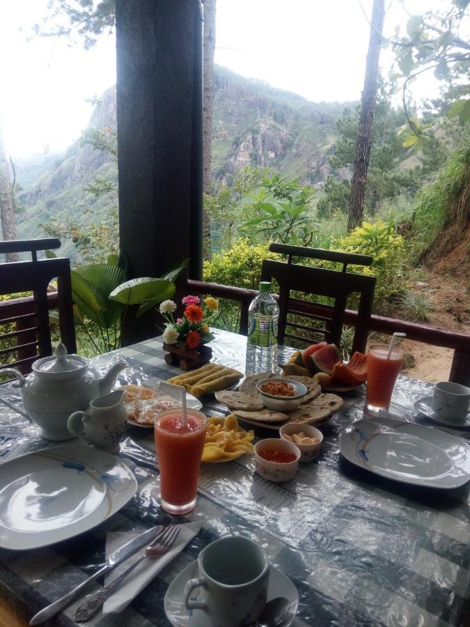
[[[284,176],[320,187],[329,174],[327,155],[336,139],[335,123],[350,103],[309,102],[301,96],[247,79],[216,66],[212,119],[212,172],[215,182],[247,164],[271,166]],[[116,128],[116,88],[104,92],[90,127]],[[41,223],[87,220],[86,209],[106,199],[85,191],[95,178],[117,182],[116,162],[93,146],[75,142],[63,155],[23,161],[17,169],[17,235],[44,235]],[[67,251],[70,252],[70,251]]]

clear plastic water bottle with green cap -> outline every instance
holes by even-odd
[[[258,296],[253,298],[248,310],[247,376],[276,371],[279,306],[270,291],[269,281],[261,281]]]

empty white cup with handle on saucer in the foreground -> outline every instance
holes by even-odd
[[[198,557],[199,577],[183,596],[188,610],[202,610],[213,627],[239,627],[255,621],[267,601],[269,562],[253,540],[228,536],[207,545]],[[202,601],[191,598],[203,587]]]

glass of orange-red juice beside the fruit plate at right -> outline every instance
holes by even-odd
[[[390,399],[403,363],[403,351],[389,346],[374,344],[367,353],[366,405],[369,410],[388,409]]]

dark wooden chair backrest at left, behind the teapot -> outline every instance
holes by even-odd
[[[0,254],[29,252],[32,257],[31,261],[0,263],[0,295],[33,293],[32,298],[25,297],[17,303],[0,302],[0,368],[15,366],[26,373],[38,357],[52,355],[47,299],[52,279],[57,279],[61,341],[69,353],[77,351],[70,261],[63,257],[39,260],[37,257],[39,250],[60,246],[56,238],[0,242]],[[8,359],[12,361],[7,364]]]

